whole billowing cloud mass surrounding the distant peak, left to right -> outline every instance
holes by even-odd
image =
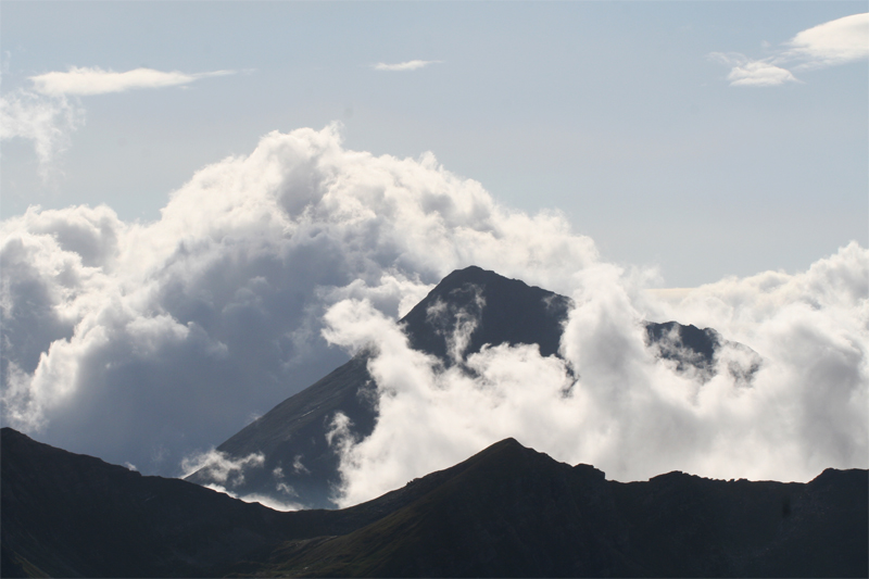
[[[646,290],[654,270],[603,262],[561,214],[505,207],[431,153],[344,149],[336,126],[270,133],[202,168],[154,223],[30,207],[0,236],[3,423],[146,474],[181,474],[185,456],[369,347],[375,432],[356,440],[340,416],[331,432],[344,504],[506,436],[625,480],[868,466],[869,252],[856,242],[805,273],[667,297]],[[500,347],[444,369],[407,349],[395,320],[471,264],[574,299],[563,358]],[[679,374],[644,345],[644,319],[716,328],[764,364],[751,383]],[[745,356],[728,347],[717,364]]]

